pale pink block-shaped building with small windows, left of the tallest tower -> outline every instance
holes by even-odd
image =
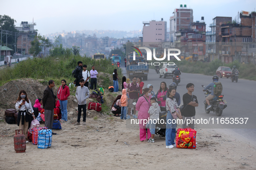
[[[167,22],[155,21],[143,22],[143,42],[163,42],[166,41]]]

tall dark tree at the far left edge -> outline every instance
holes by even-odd
[[[10,16],[0,15],[0,30],[3,31],[11,31],[12,35],[7,35],[7,47],[14,49],[15,48],[15,32],[18,32],[18,30],[15,28],[16,20],[12,19]],[[6,35],[2,35],[2,43],[6,44]],[[17,42],[17,41],[16,41]],[[15,50],[12,51],[12,54]]]

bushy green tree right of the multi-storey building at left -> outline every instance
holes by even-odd
[[[49,39],[46,39],[45,36],[36,35],[34,40],[31,41],[31,48],[29,49],[29,53],[33,54],[34,57],[38,56],[42,58],[45,54],[45,50],[48,47],[51,47],[52,43]]]

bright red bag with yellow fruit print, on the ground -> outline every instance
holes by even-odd
[[[197,131],[191,128],[178,129],[176,133],[176,148],[196,148],[196,137]]]

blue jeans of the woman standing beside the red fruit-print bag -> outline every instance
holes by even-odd
[[[168,113],[167,113],[167,116],[166,116],[166,131],[165,131],[165,144],[166,144],[166,146],[170,146],[170,145],[175,144],[174,139],[175,139],[177,122],[175,121],[175,124],[172,124],[172,120],[174,122],[174,120],[176,120],[176,119],[173,119],[171,112],[168,110]]]

